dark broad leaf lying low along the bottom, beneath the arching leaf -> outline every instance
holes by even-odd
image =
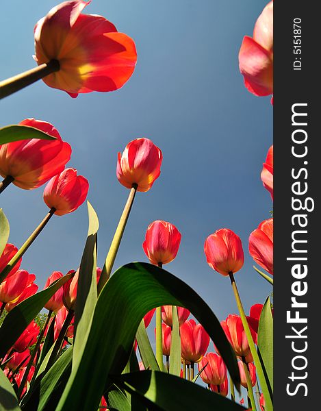
[[[161,373],[140,371],[114,377],[121,388],[136,395],[151,410],[166,411],[242,411],[242,406],[230,399],[212,393],[186,379]]]

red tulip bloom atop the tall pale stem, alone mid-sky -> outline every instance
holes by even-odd
[[[123,154],[118,153],[116,175],[123,186],[148,191],[159,177],[162,151],[148,138],[136,138],[127,144]]]

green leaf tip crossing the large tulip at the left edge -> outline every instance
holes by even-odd
[[[55,137],[49,136],[35,127],[29,125],[6,125],[0,128],[0,145],[6,142],[29,140],[30,138],[40,138],[41,140],[56,140]]]

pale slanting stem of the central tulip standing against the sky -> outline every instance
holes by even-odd
[[[133,184],[131,190],[129,191],[129,196],[125,204],[123,214],[120,216],[120,220],[116,228],[114,238],[112,239],[112,244],[110,245],[110,250],[107,253],[105,264],[103,266],[103,270],[101,271],[101,277],[98,283],[98,294],[101,292],[103,286],[106,284],[106,282],[110,278],[110,274],[112,273],[112,267],[114,265],[114,262],[115,262],[115,259],[118,253],[120,241],[123,238],[123,234],[125,231],[129,213],[131,212],[131,207],[133,206],[133,200],[135,199],[137,187],[138,187],[137,184]]]

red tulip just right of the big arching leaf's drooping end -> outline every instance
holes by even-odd
[[[225,321],[221,321],[222,329],[233,347],[235,354],[240,357],[246,357],[251,354],[248,346],[248,339],[244,331],[241,317],[236,314],[230,314]],[[255,340],[255,332],[251,329],[253,340]]]

